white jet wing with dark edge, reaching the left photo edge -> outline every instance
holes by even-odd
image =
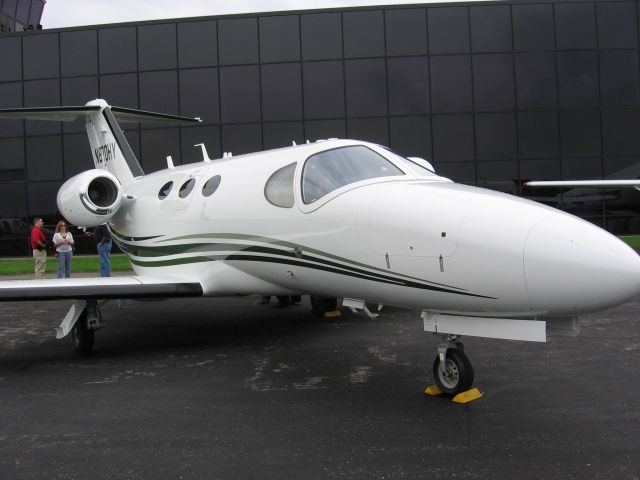
[[[202,285],[199,282],[174,276],[0,281],[0,302],[200,296]]]

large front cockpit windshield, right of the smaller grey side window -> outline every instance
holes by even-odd
[[[302,170],[302,200],[313,203],[340,187],[361,180],[404,175],[382,155],[354,145],[310,156]]]

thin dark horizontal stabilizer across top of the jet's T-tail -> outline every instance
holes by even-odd
[[[82,105],[71,107],[27,107],[0,110],[0,118],[18,120],[47,120],[53,122],[73,122],[78,117],[91,112],[99,112],[100,105]],[[170,125],[191,125],[201,122],[200,118],[180,117],[165,113],[135,110],[133,108],[110,107],[116,120],[123,123],[161,123]]]

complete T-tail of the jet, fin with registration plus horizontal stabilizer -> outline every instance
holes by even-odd
[[[78,107],[13,108],[0,110],[0,118],[72,122],[80,115],[87,120],[87,135],[95,167],[113,173],[121,184],[144,175],[140,162],[118,124],[120,122],[151,122],[185,125],[200,122],[199,118],[178,117],[130,108],[112,107],[102,99]]]

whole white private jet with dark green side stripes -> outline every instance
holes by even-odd
[[[546,320],[618,305],[640,292],[640,257],[553,208],[460,185],[422,159],[326,140],[145,175],[118,121],[197,119],[109,106],[0,111],[86,117],[95,168],[70,178],[58,208],[79,226],[112,223],[135,276],[0,283],[0,300],[70,299],[58,327],[93,346],[98,300],[310,294],[314,305],[422,312],[441,336],[433,370],[446,393],[473,369],[460,336],[546,340]],[[326,305],[325,305],[326,304]]]

